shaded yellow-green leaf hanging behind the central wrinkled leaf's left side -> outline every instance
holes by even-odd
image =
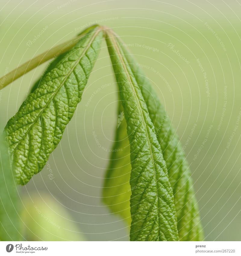
[[[127,137],[127,124],[121,103],[118,107],[118,124],[115,142],[106,171],[103,187],[103,202],[113,213],[119,214],[128,225],[130,217],[130,143]]]

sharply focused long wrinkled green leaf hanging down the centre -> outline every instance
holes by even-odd
[[[106,42],[121,94],[130,141],[130,240],[177,241],[173,192],[154,125],[131,68],[109,32]]]

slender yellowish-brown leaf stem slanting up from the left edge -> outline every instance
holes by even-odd
[[[96,26],[96,25],[94,25]],[[91,26],[90,28],[94,27]],[[65,43],[61,43],[58,46],[55,46],[40,55],[30,59],[29,61],[23,63],[22,65],[18,66],[8,74],[0,77],[0,90],[6,87],[8,84],[11,84],[17,78],[23,76],[24,74],[28,73],[32,69],[36,68],[37,66],[41,65],[42,63],[57,57],[59,54],[67,52],[73,46],[77,44],[81,37],[83,37],[86,33],[88,33],[89,29],[85,30],[85,33],[80,33],[78,36],[74,37],[71,40],[66,41]]]

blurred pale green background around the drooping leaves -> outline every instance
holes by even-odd
[[[2,0],[0,8],[0,76],[95,23],[130,44],[185,148],[205,240],[240,241],[240,1]],[[32,235],[23,240],[129,240],[101,197],[120,114],[104,40],[102,47],[61,143],[19,187],[23,208],[31,202],[40,219],[38,231],[28,220]],[[46,65],[0,90],[1,129]]]

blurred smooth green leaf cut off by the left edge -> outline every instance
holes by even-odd
[[[0,241],[19,241],[19,196],[10,167],[7,144],[0,136]]]

